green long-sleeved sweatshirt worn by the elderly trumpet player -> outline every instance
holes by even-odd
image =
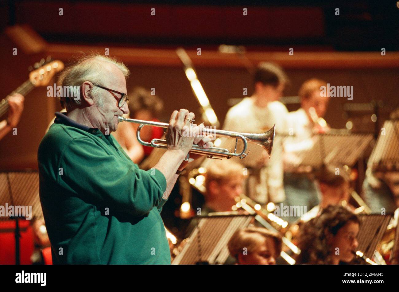
[[[166,179],[140,170],[111,135],[57,118],[38,150],[54,264],[170,264]]]

